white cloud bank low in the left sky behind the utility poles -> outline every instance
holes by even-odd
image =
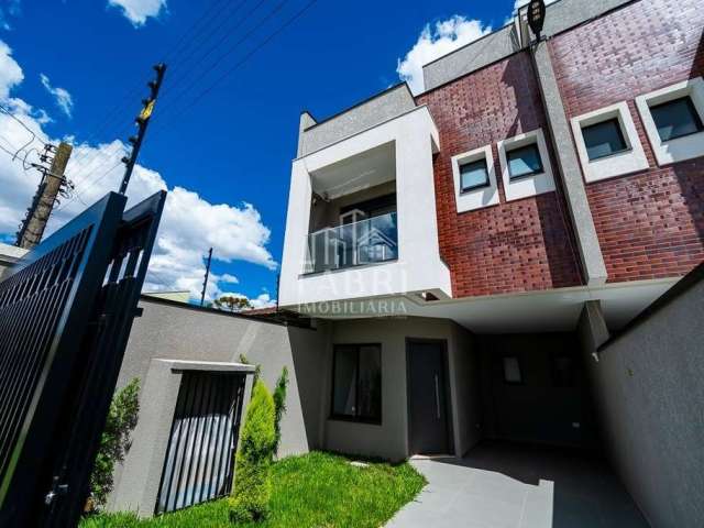
[[[0,41],[0,95],[9,95],[22,78],[22,69],[12,58],[10,48]],[[42,141],[58,142],[42,130],[45,114],[21,99],[7,96],[0,99],[14,117],[36,131]],[[0,112],[0,145],[14,152],[30,140],[31,133],[10,116]],[[20,157],[37,147],[41,144],[35,141],[20,153]],[[127,154],[128,145],[119,140],[75,145],[66,174],[76,184],[76,193],[73,198],[61,199],[50,220],[47,235],[107,191],[118,189],[124,169],[120,160]],[[32,151],[29,160],[36,161],[35,155],[36,152]],[[16,231],[38,179],[36,170],[24,172],[21,163],[0,152],[0,188],[3,189],[0,193],[0,235]],[[167,188],[158,172],[136,165],[130,182],[128,206]],[[215,261],[246,261],[268,270],[276,268],[277,264],[266,248],[270,230],[254,206],[211,204],[184,187],[168,188],[168,191],[145,290],[187,289],[194,298],[200,298],[204,258],[209,248],[213,248]],[[224,285],[238,283],[233,275],[212,274],[207,297],[212,299]]]

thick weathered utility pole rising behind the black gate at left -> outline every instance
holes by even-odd
[[[43,172],[43,177],[32,200],[32,206],[28,210],[26,218],[22,222],[22,228],[18,233],[18,246],[32,250],[42,241],[46,222],[48,222],[48,217],[52,215],[56,202],[56,196],[66,184],[64,173],[72,151],[73,146],[64,142],[59,143],[58,147],[46,145],[46,152],[41,158],[42,161],[48,161],[48,153],[54,152],[51,167],[47,170],[45,166],[34,165],[35,168]]]

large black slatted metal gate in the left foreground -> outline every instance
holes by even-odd
[[[110,193],[0,283],[0,527],[76,526],[166,193]]]

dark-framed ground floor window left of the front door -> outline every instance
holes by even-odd
[[[332,418],[382,421],[382,346],[339,344],[332,366]]]

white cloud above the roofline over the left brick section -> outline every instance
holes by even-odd
[[[491,31],[491,25],[484,25],[480,20],[468,20],[459,14],[436,22],[432,26],[426,24],[414,47],[403,59],[398,59],[396,72],[402,80],[408,82],[414,94],[419,94],[424,89],[425,64],[476,41]]]

